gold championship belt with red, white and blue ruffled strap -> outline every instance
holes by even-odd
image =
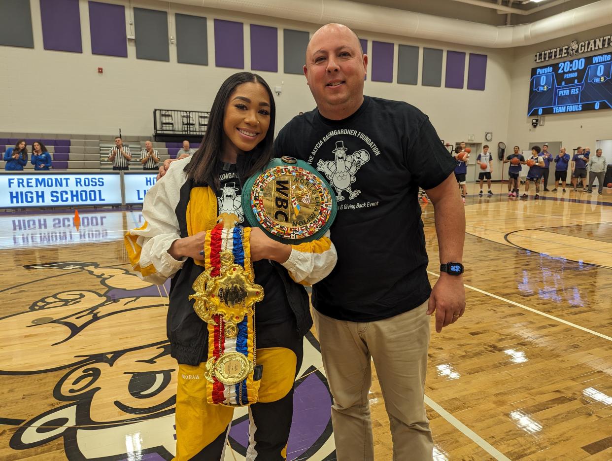
[[[193,283],[193,309],[208,328],[204,377],[208,403],[241,407],[257,402],[261,367],[256,367],[255,303],[264,298],[250,260],[250,228],[234,227],[223,214],[206,233],[204,267]],[[259,372],[259,373],[256,373]]]

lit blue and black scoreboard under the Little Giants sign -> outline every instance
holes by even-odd
[[[531,69],[528,116],[612,108],[612,54]]]

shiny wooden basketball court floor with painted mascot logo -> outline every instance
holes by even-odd
[[[612,189],[524,200],[501,184],[492,197],[468,187],[468,309],[431,334],[436,461],[612,460]],[[422,208],[435,283],[433,207]],[[80,212],[78,231],[72,210],[0,216],[0,459],[170,459],[166,291],[130,275],[121,241],[140,213]],[[288,459],[332,461],[315,337]],[[391,460],[376,378],[370,405],[376,460]],[[246,425],[236,411],[226,460],[244,460]]]

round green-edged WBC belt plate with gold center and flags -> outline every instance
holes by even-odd
[[[331,187],[315,168],[281,157],[247,179],[242,209],[247,222],[270,238],[300,244],[323,237],[334,222],[337,204]]]

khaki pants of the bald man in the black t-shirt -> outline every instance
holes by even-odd
[[[323,366],[334,396],[332,423],[338,461],[373,461],[368,391],[373,359],[389,415],[394,460],[431,461],[433,439],[425,413],[429,346],[427,302],[367,323],[316,312]]]

